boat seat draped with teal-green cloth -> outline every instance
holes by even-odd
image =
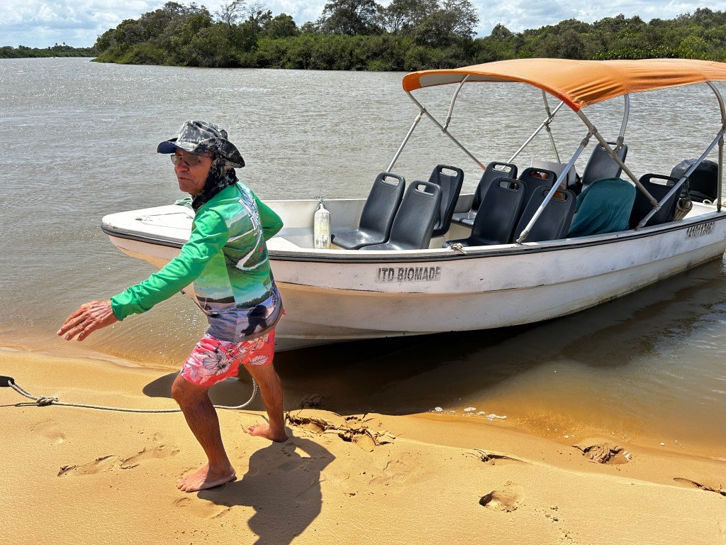
[[[630,228],[635,187],[621,178],[592,182],[577,195],[575,217],[568,237],[617,233]]]

